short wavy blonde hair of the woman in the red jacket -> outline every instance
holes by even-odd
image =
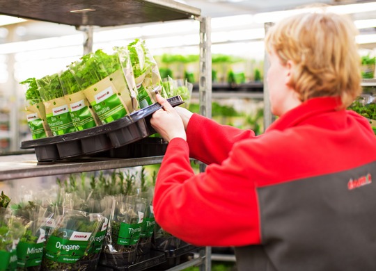
[[[289,84],[301,101],[314,97],[340,97],[340,108],[361,94],[360,56],[352,19],[345,15],[301,13],[270,27],[265,46],[285,65],[295,63]]]

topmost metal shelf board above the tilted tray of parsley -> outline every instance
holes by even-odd
[[[0,0],[0,14],[72,26],[121,26],[189,19],[201,10],[172,0]]]

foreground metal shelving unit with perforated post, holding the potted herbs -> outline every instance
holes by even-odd
[[[123,26],[149,22],[166,22],[196,19],[200,22],[200,112],[211,116],[212,59],[210,54],[210,18],[202,17],[201,10],[171,0],[0,0],[0,14],[57,24],[76,26],[86,33],[84,54],[93,46],[94,26]],[[107,170],[162,162],[162,156],[133,159],[81,158],[76,161],[39,163],[35,154],[21,153],[0,156],[0,181],[50,176],[74,172]],[[200,265],[200,270],[210,270],[210,247],[187,263],[171,270],[182,270]]]

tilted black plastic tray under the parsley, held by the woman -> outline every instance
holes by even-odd
[[[167,99],[171,106],[183,104],[180,96]],[[23,141],[21,149],[34,148],[38,161],[56,161],[77,156],[91,156],[123,147],[155,133],[150,117],[162,106],[158,103],[137,110],[119,120],[61,136]]]

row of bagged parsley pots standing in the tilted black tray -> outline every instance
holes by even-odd
[[[189,99],[187,82],[173,88],[163,79],[145,40],[136,39],[109,54],[86,54],[61,72],[20,82],[33,139],[59,136],[119,120],[155,104],[155,94]]]

